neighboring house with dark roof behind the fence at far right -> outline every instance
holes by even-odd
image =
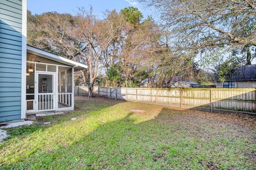
[[[237,74],[225,82],[216,82],[217,88],[256,88],[256,64],[239,67]]]

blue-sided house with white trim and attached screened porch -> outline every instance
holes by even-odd
[[[26,0],[0,10],[0,122],[73,110],[74,72],[87,66],[27,45]]]

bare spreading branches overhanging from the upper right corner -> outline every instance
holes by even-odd
[[[256,46],[256,1],[139,0],[161,13],[179,52]]]

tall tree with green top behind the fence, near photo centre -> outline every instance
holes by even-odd
[[[119,49],[117,61],[121,66],[123,86],[136,86],[138,67],[145,58],[158,50],[159,28],[154,21],[141,22],[142,14],[138,8],[128,7],[115,14],[115,20],[122,21],[115,48]],[[133,84],[135,83],[135,84]]]

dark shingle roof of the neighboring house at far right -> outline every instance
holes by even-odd
[[[230,80],[230,79],[227,79]],[[232,81],[256,80],[256,64],[239,67],[237,74],[231,76]]]

